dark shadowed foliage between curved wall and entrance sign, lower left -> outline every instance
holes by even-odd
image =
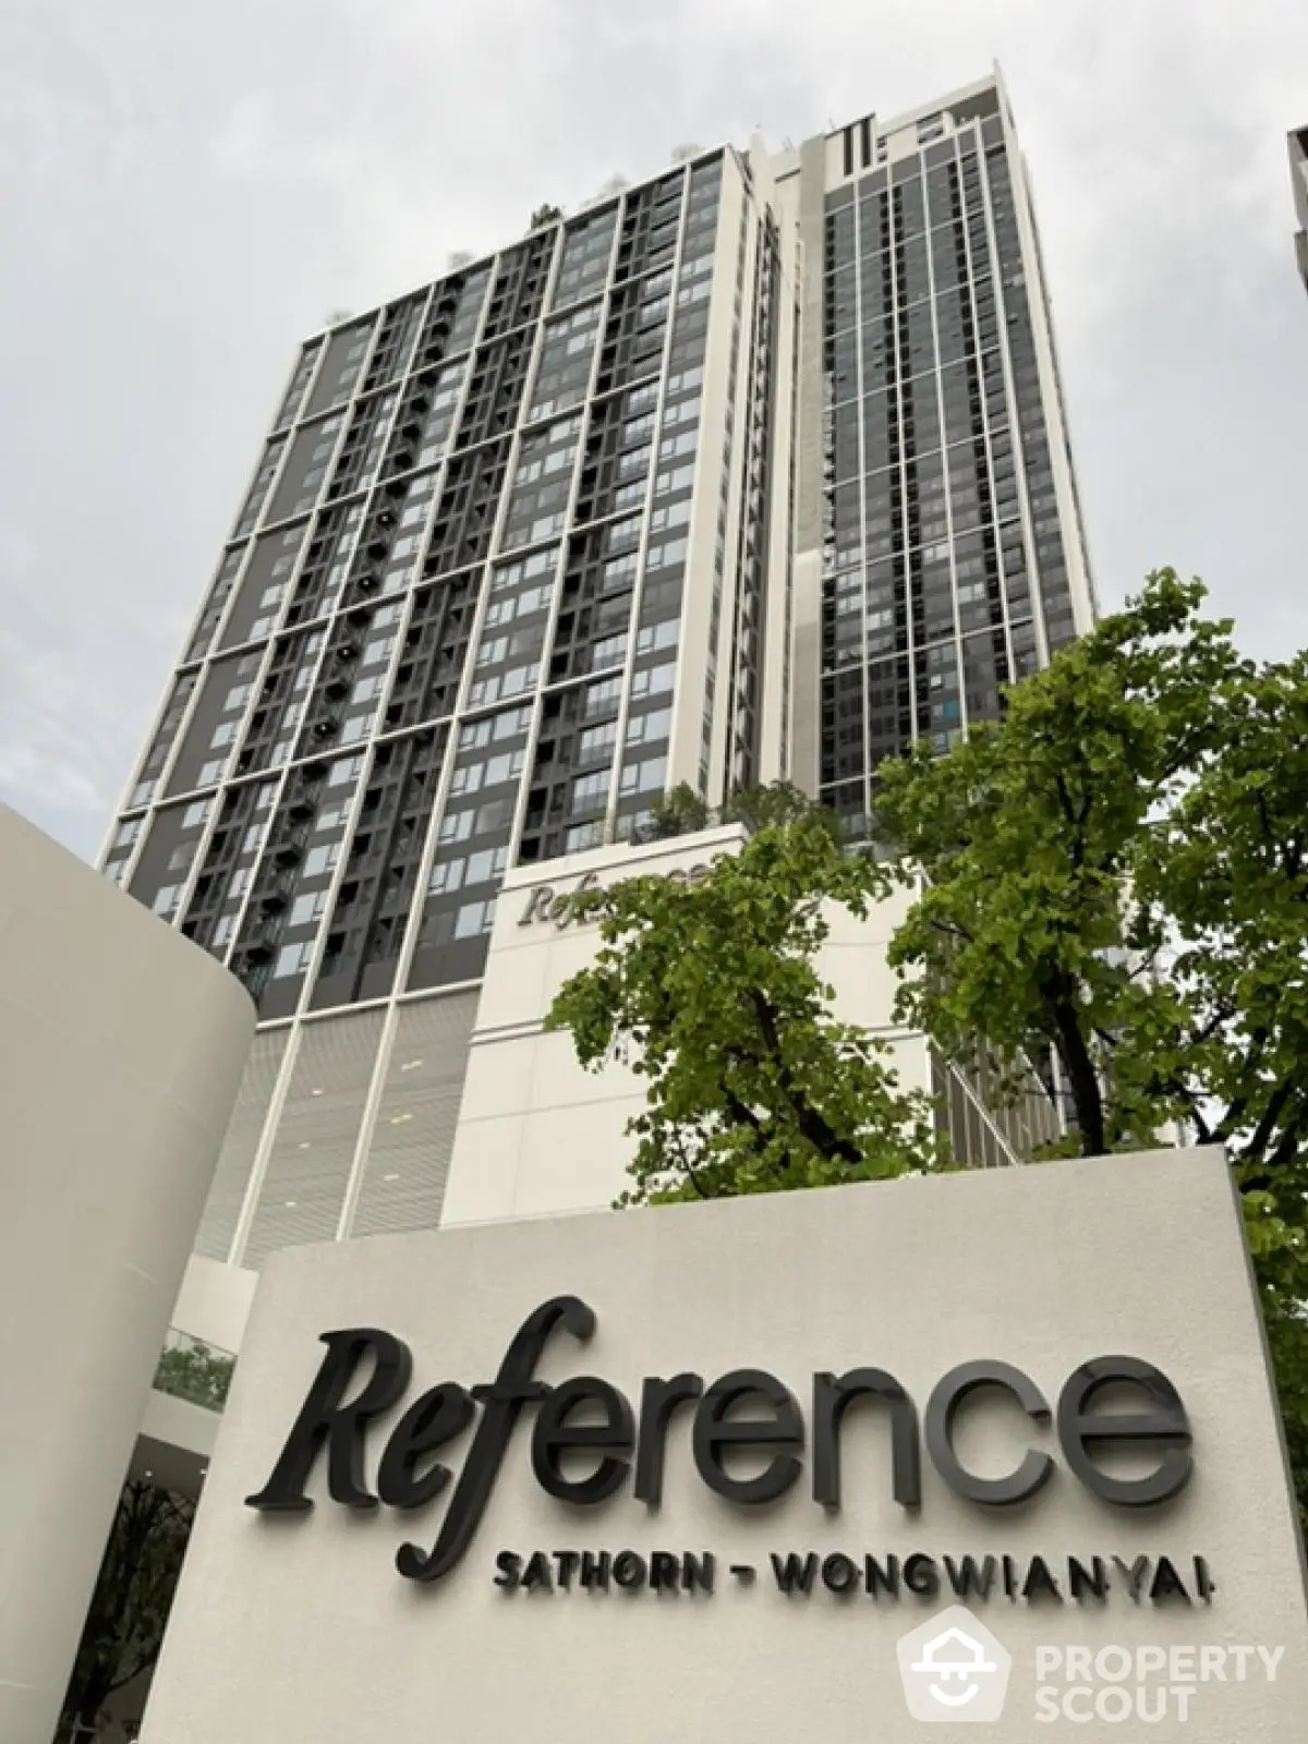
[[[59,1744],[94,1737],[108,1700],[153,1669],[195,1505],[148,1479],[122,1488],[59,1721]]]

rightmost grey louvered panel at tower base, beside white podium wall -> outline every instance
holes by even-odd
[[[474,992],[401,1008],[351,1235],[439,1223],[474,1017]]]

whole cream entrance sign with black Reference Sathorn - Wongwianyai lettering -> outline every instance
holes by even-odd
[[[276,1256],[143,1744],[433,1716],[508,1744],[610,1709],[637,1744],[1127,1714],[1228,1744],[1305,1702],[1249,1264],[1200,1151]]]

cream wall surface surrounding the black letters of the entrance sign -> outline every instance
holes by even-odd
[[[884,1420],[870,1411],[844,1427],[839,1510],[811,1500],[807,1463],[771,1505],[713,1495],[691,1460],[687,1413],[668,1432],[659,1510],[631,1496],[630,1474],[610,1500],[577,1507],[535,1484],[527,1407],[480,1531],[434,1587],[401,1578],[394,1556],[405,1542],[431,1549],[450,1489],[417,1512],[361,1514],[330,1502],[316,1470],[309,1514],[260,1517],[244,1505],[317,1373],[319,1334],[384,1327],[412,1348],[410,1388],[370,1435],[371,1484],[399,1411],[443,1380],[494,1378],[523,1318],[560,1292],[581,1296],[596,1329],[586,1345],[556,1331],[535,1373],[548,1383],[598,1374],[633,1402],[642,1376],[692,1371],[708,1383],[757,1366],[809,1413],[814,1371],[879,1364],[921,1411],[949,1369],[975,1359],[1017,1364],[1053,1402],[1088,1359],[1134,1355],[1179,1388],[1195,1477],[1168,1503],[1111,1507],[1073,1475],[1052,1427],[978,1395],[957,1434],[975,1472],[1010,1472],[1027,1448],[1053,1454],[1052,1481],[1017,1509],[961,1500],[924,1454],[921,1510],[905,1512],[889,1493]],[[464,1435],[441,1453],[455,1474],[467,1448]],[[1144,1468],[1156,1463],[1149,1449]],[[497,1552],[535,1549],[710,1550],[719,1591],[506,1596],[492,1580]],[[1299,1739],[1303,1570],[1221,1155],[1097,1158],[279,1254],[251,1317],[143,1744],[408,1744],[441,1732],[480,1744],[609,1734],[630,1744],[916,1744],[896,1641],[952,1598],[785,1598],[769,1554],[787,1550],[844,1550],[860,1564],[865,1554],[930,1552],[1008,1554],[1025,1566],[1038,1554],[1062,1591],[1067,1556],[1168,1556],[1191,1585],[1189,1559],[1203,1556],[1216,1580],[1209,1604],[1135,1604],[1113,1573],[1100,1604],[996,1594],[977,1606],[1013,1657],[1005,1721],[985,1735]],[[757,1568],[757,1584],[732,1580],[732,1563]],[[1277,1681],[1202,1683],[1188,1720],[1172,1711],[1148,1728],[1078,1734],[1036,1716],[1041,1645],[1259,1643],[1284,1648]]]

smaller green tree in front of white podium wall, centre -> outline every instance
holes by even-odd
[[[598,1071],[645,1080],[633,1188],[619,1203],[722,1198],[926,1167],[930,1104],[903,1092],[879,1043],[830,1013],[814,954],[827,905],[856,916],[888,889],[842,853],[820,807],[787,806],[696,884],[624,879],[576,898],[600,914],[595,963],[555,998]]]

